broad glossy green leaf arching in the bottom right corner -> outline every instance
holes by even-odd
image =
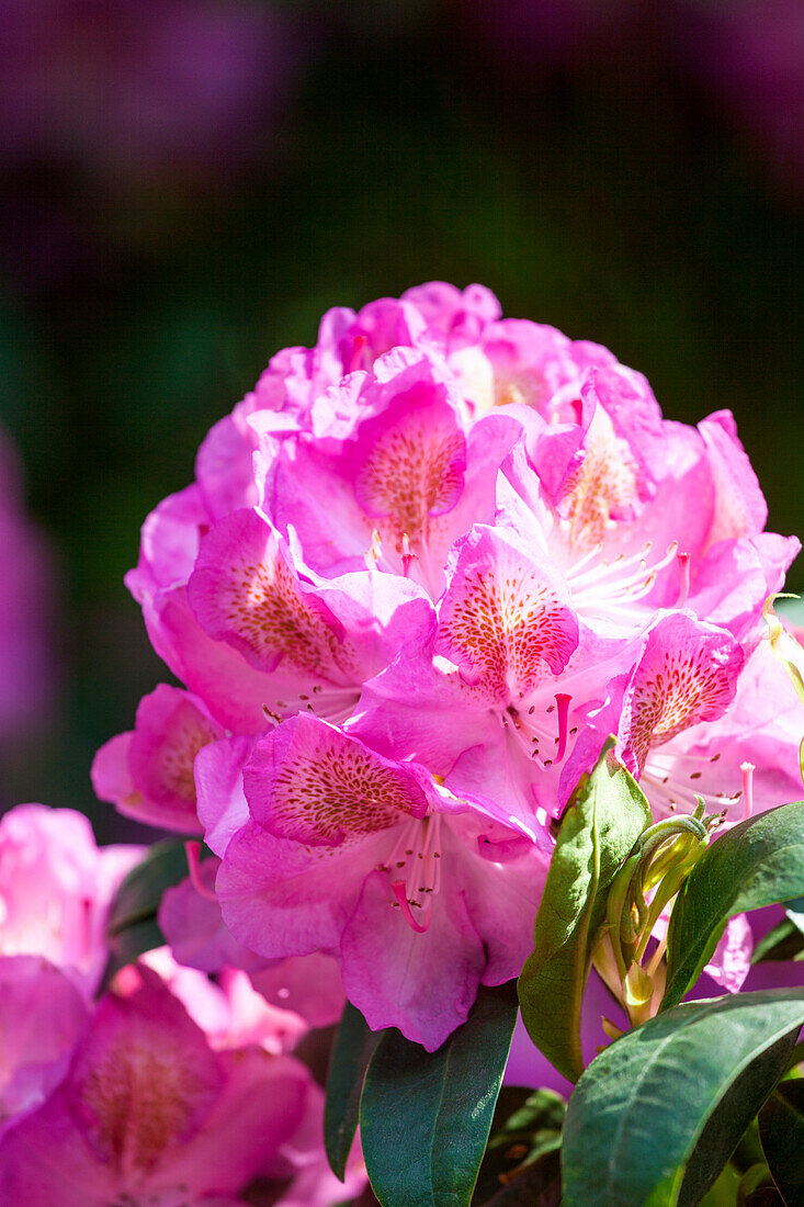
[[[802,1022],[804,991],[765,990],[678,1005],[617,1039],[567,1106],[564,1207],[694,1202],[680,1199],[688,1166],[697,1182],[684,1194],[704,1168],[715,1182],[730,1136],[783,1073]],[[726,1120],[716,1119],[721,1108]]]

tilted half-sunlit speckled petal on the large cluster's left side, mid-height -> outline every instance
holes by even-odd
[[[305,591],[276,532],[254,511],[234,512],[203,543],[190,579],[199,623],[258,670],[280,660],[308,674],[337,661],[342,626]]]

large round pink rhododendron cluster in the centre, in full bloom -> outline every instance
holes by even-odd
[[[215,855],[165,899],[174,950],[280,980],[324,961],[432,1050],[520,972],[610,734],[657,818],[792,799],[762,608],[799,546],[765,521],[728,412],[665,419],[610,351],[480,286],[328,311],[212,427],[127,579],[185,687],[93,779]]]

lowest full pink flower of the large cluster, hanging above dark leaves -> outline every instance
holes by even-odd
[[[225,745],[210,747],[227,758]],[[245,766],[250,820],[216,891],[246,946],[322,951],[373,1027],[429,1049],[477,986],[514,976],[531,943],[543,861],[491,804],[458,800],[313,717],[280,725]]]

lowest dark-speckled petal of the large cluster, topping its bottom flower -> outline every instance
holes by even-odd
[[[261,824],[314,846],[361,839],[427,811],[408,771],[307,715],[257,742],[243,782]]]

